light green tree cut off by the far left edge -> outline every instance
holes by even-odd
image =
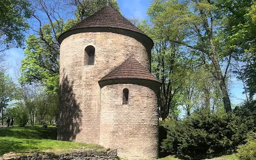
[[[7,103],[14,98],[15,84],[10,76],[4,71],[0,71],[0,110],[2,112],[2,125],[4,121],[3,110],[7,107]]]

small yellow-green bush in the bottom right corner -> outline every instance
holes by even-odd
[[[256,159],[256,133],[251,132],[246,143],[238,146],[236,155],[242,160]]]

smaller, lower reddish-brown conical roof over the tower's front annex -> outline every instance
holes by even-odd
[[[147,79],[160,83],[140,62],[135,58],[126,59],[121,65],[110,71],[100,81],[108,79]],[[100,82],[99,81],[99,82]]]

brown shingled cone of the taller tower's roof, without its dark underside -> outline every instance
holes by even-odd
[[[106,6],[103,9],[99,10],[95,14],[87,17],[83,21],[77,23],[75,26],[71,27],[69,30],[65,31],[59,36],[59,43],[63,41],[66,37],[81,33],[82,29],[93,29],[93,28],[117,28],[117,29],[125,29],[134,31],[136,33],[144,34],[139,28],[135,27],[129,20],[127,20],[123,15],[121,15],[118,11],[113,9],[110,6]],[[148,37],[149,38],[149,37]],[[149,38],[151,43],[153,43],[152,39]]]

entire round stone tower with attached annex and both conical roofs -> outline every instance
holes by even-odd
[[[59,37],[58,140],[97,143],[129,159],[158,155],[153,41],[107,6]]]

